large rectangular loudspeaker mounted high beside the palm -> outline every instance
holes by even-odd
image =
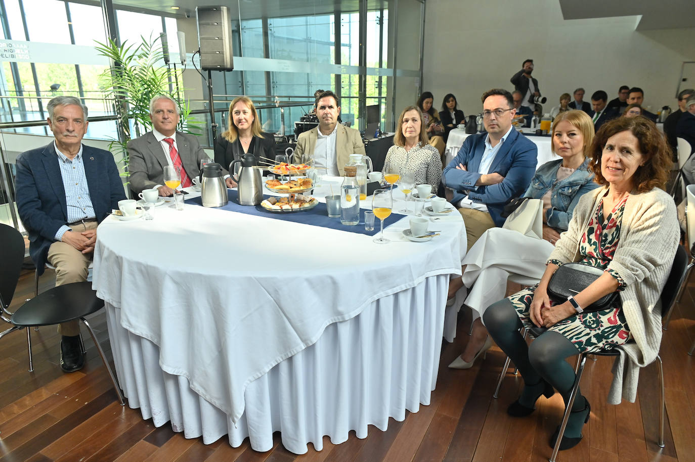
[[[234,70],[231,53],[231,19],[227,6],[197,6],[200,67],[204,70]]]

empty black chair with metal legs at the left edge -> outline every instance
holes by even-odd
[[[92,283],[75,282],[51,288],[31,300],[27,300],[22,306],[17,308],[15,313],[10,313],[6,310],[6,307],[9,306],[10,299],[14,295],[15,287],[19,279],[19,269],[21,268],[22,261],[24,261],[24,238],[22,238],[22,234],[13,227],[0,224],[0,242],[3,242],[3,248],[0,249],[0,259],[3,261],[0,270],[0,294],[2,296],[3,305],[2,318],[6,322],[13,324],[13,327],[0,333],[0,338],[3,338],[10,332],[26,328],[29,343],[29,371],[31,372],[33,370],[33,365],[31,361],[31,337],[29,335],[31,329],[29,329],[29,327],[49,326],[52,324],[60,324],[61,322],[81,320],[87,327],[90,336],[92,336],[92,340],[94,340],[99,356],[101,356],[101,361],[104,362],[108,375],[111,377],[111,383],[113,383],[113,388],[116,390],[118,400],[121,406],[123,406],[125,404],[123,395],[118,387],[113,371],[106,361],[104,351],[97,341],[97,336],[95,336],[92,327],[90,327],[87,320],[85,320],[85,316],[96,313],[104,307],[104,302],[97,298],[97,292],[92,290]],[[19,264],[15,265],[18,259],[17,254],[21,256],[21,260],[19,260]],[[8,267],[10,267],[8,263],[10,258],[13,260],[13,265],[16,267],[13,270],[8,270]],[[5,313],[11,316],[10,319],[7,319],[4,315]]]

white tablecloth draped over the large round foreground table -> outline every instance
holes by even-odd
[[[417,243],[402,238],[407,217],[389,222],[393,242],[377,245],[194,204],[107,217],[93,287],[129,406],[204,443],[267,451],[281,431],[304,454],[429,404],[463,222],[433,222],[441,236]]]

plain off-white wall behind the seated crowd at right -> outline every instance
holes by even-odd
[[[533,76],[548,97],[544,112],[575,88],[584,87],[589,101],[596,90],[615,98],[620,85],[641,87],[654,113],[676,108],[682,61],[695,60],[695,28],[635,31],[635,16],[565,21],[557,0],[510,5],[425,2],[423,90],[434,93],[437,108],[452,92],[466,115],[479,112],[484,91],[514,90],[509,79],[526,58],[534,60]]]

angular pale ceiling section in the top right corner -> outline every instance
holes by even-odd
[[[559,0],[564,19],[641,16],[638,30],[695,27],[693,0]]]

